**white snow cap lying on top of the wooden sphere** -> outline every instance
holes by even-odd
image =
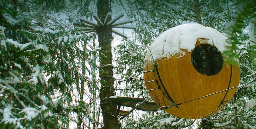
[[[208,43],[214,45],[219,51],[226,50],[227,37],[211,27],[190,23],[172,27],[161,33],[151,44],[150,50],[154,60],[173,55],[180,57],[185,55],[184,50],[190,52],[195,48],[197,39],[208,39]],[[150,51],[148,51],[150,52]],[[151,60],[152,57],[150,56]]]

